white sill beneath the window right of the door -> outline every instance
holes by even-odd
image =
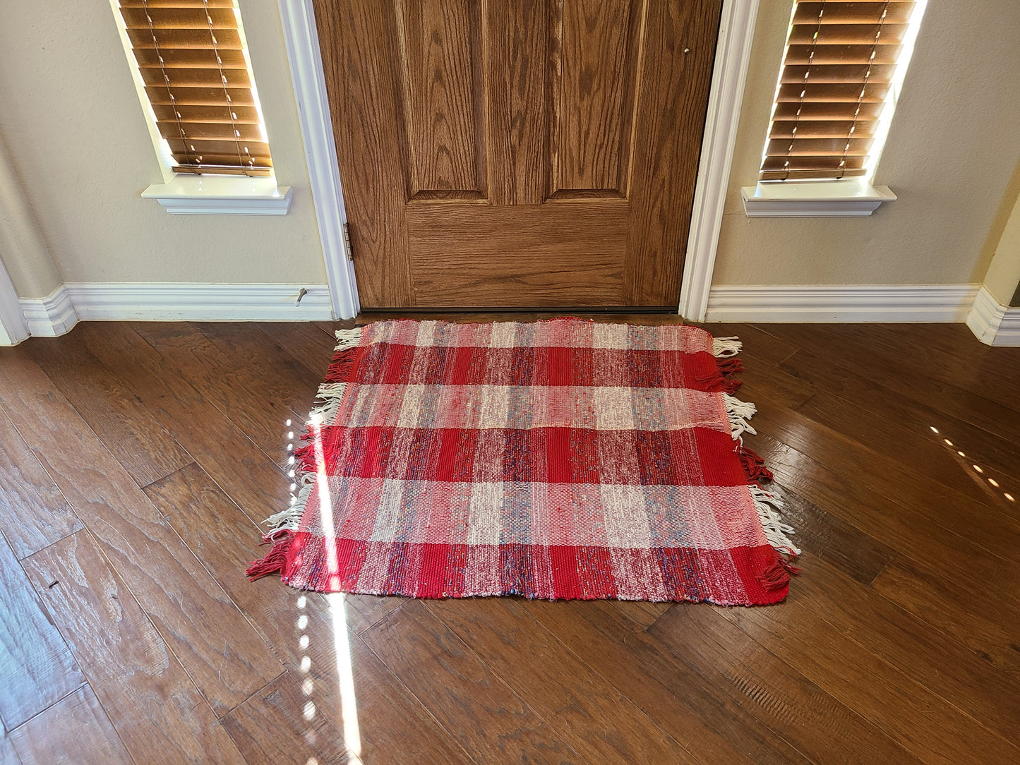
[[[741,189],[741,197],[749,218],[815,218],[870,215],[896,194],[887,186],[852,178],[758,184]]]

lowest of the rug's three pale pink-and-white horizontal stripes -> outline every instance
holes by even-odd
[[[529,482],[524,487],[530,508],[525,530],[532,545],[725,550],[766,544],[761,529],[749,527],[747,516],[737,511],[752,501],[745,486]],[[499,545],[506,542],[502,534],[507,533],[515,509],[513,484],[505,481],[346,477],[330,478],[329,488],[337,498],[333,513],[338,536],[348,540]],[[375,509],[374,514],[362,518],[361,508],[345,501],[354,497]],[[718,507],[734,511],[715,520],[712,509]],[[665,509],[675,511],[672,522]],[[309,510],[306,530],[320,533],[315,500]]]

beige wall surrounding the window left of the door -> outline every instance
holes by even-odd
[[[108,0],[4,0],[0,138],[64,282],[325,284],[276,0],[241,0],[286,216],[170,215]],[[22,298],[49,290],[3,258]],[[52,288],[51,288],[52,289]]]

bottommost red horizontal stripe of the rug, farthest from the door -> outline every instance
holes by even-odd
[[[711,601],[723,605],[777,603],[785,586],[769,588],[761,572],[777,556],[768,546],[732,550],[693,548],[610,549],[537,545],[429,545],[332,541],[339,571],[324,566],[300,568],[302,555],[324,560],[321,541],[298,532],[285,576],[291,584],[312,590],[346,590],[415,598],[464,598],[520,595],[526,598],[595,600],[603,598]],[[306,549],[306,546],[307,549]],[[380,560],[386,575],[366,586],[359,573],[368,559]],[[499,561],[499,575],[471,561]],[[376,566],[377,567],[377,566]],[[618,581],[616,572],[641,572],[641,580]],[[710,575],[706,575],[711,572]],[[788,577],[787,577],[788,578]]]

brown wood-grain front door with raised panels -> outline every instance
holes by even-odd
[[[720,6],[315,0],[362,307],[675,307]]]

